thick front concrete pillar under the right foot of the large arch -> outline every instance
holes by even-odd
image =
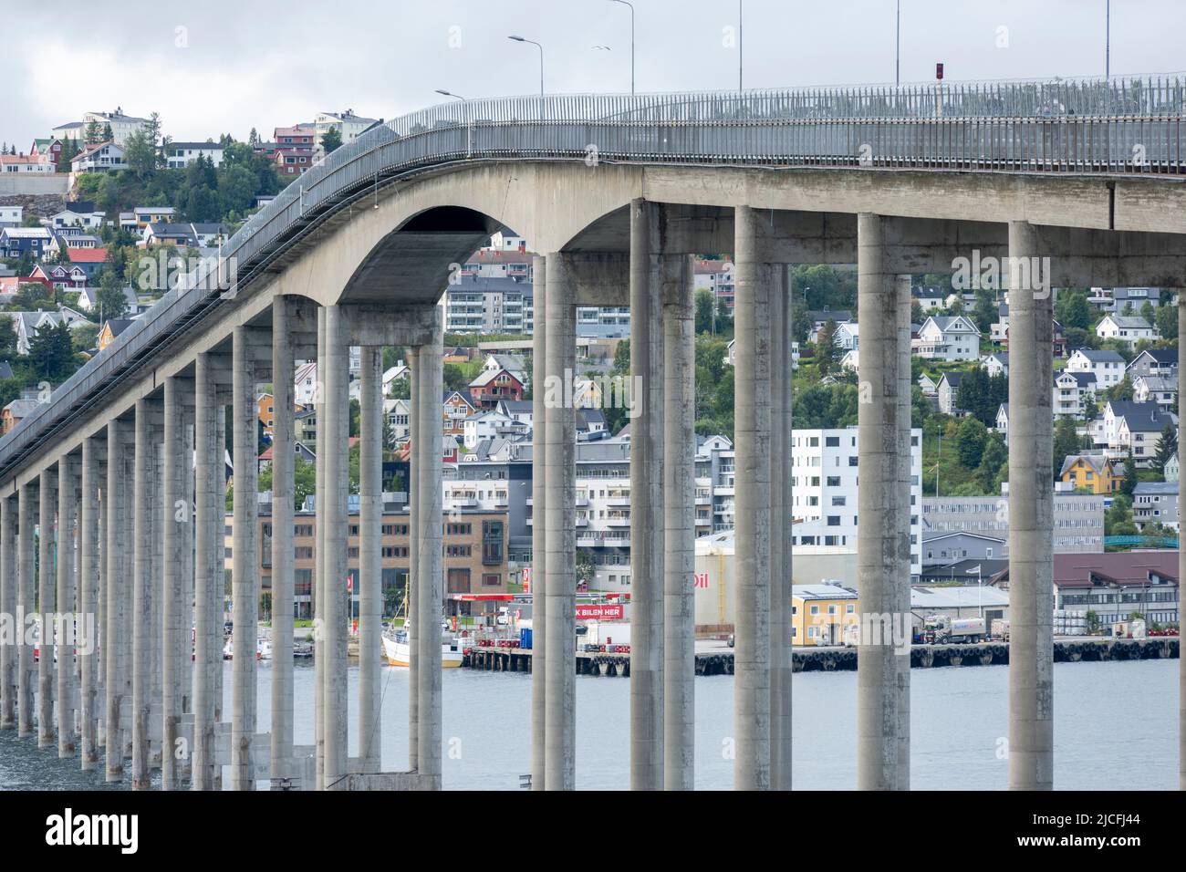
[[[565,255],[554,253],[547,259],[548,316],[536,327],[548,333],[543,457],[548,511],[542,518],[548,548],[544,777],[548,790],[572,790],[576,783],[576,418],[572,403],[563,400],[565,380],[572,378],[576,367],[576,284]]]

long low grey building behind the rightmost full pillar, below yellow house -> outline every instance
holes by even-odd
[[[923,497],[923,540],[944,533],[978,533],[1005,539],[1008,547],[1009,496]],[[1101,552],[1104,497],[1054,495],[1054,553]],[[1008,555],[1005,555],[1008,556]]]

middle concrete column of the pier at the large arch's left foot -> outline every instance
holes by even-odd
[[[382,771],[380,654],[383,642],[383,349],[362,350],[358,517],[358,756]]]

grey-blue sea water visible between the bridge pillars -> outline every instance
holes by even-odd
[[[224,663],[224,711],[230,707]],[[1057,789],[1178,787],[1178,661],[1054,664]],[[260,724],[270,717],[270,663],[259,670]],[[351,753],[357,753],[357,680],[350,669]],[[797,673],[792,682],[792,788],[856,785],[856,673]],[[630,680],[576,679],[576,787],[629,787]],[[313,668],[295,669],[295,740],[312,744]],[[733,784],[733,677],[701,676],[696,694],[696,787]],[[530,771],[531,680],[527,674],[444,673],[444,782],[448,789],[516,790]],[[384,667],[383,766],[408,762],[408,673]],[[911,674],[911,784],[914,789],[1002,790],[1008,783],[1008,669],[914,669]],[[158,776],[159,777],[159,776]],[[119,789],[102,770],[37,750],[36,738],[0,733],[0,789]]]

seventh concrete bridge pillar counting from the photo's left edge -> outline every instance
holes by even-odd
[[[152,715],[152,516],[157,508],[155,458],[159,403],[136,400],[135,472],[133,480],[132,575],[132,789],[151,784],[149,718]]]

